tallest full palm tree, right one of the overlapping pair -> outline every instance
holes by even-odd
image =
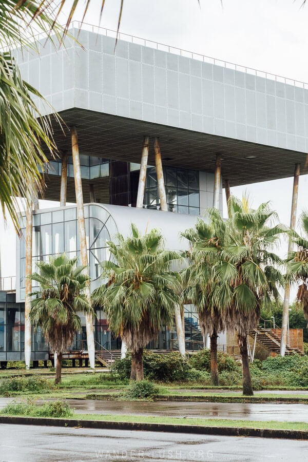
[[[227,239],[215,265],[220,283],[214,299],[226,311],[229,329],[238,333],[243,395],[253,395],[247,334],[257,327],[261,308],[268,307],[273,298],[280,299],[278,287],[284,283],[280,266],[284,262],[273,249],[288,228],[273,224],[277,214],[268,202],[253,209],[247,198],[240,201],[231,196],[229,208]]]

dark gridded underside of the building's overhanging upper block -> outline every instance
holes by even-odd
[[[107,159],[140,163],[144,135],[149,135],[148,163],[154,165],[153,138],[159,137],[164,165],[214,171],[215,157],[222,155],[222,176],[230,186],[251,184],[293,176],[294,164],[301,174],[308,172],[306,154],[198,131],[174,128],[86,109],[60,113],[63,129],[52,118],[54,141],[60,151],[71,150],[69,127],[76,126],[80,153]],[[247,159],[252,157],[252,159]],[[53,184],[60,179],[50,180]],[[69,180],[71,182],[73,180]],[[86,185],[86,180],[83,180]],[[100,179],[97,183],[102,182]],[[91,183],[95,183],[95,180]],[[73,184],[72,184],[73,186]],[[87,185],[86,185],[87,186]],[[88,187],[85,189],[88,190]],[[99,187],[99,186],[98,186]],[[106,189],[106,185],[104,185]],[[68,185],[68,189],[71,189]],[[46,195],[50,196],[50,191]],[[104,202],[102,197],[102,202]],[[69,197],[68,197],[69,200]]]

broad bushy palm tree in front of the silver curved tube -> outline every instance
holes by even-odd
[[[108,242],[111,261],[102,262],[104,283],[92,294],[92,303],[106,312],[109,328],[131,350],[131,379],[142,380],[143,349],[155,339],[162,325],[169,325],[180,303],[180,278],[171,271],[180,256],[163,248],[157,229],[141,235],[131,225],[132,236]]]

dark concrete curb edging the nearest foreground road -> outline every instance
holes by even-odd
[[[192,433],[198,435],[254,436],[308,440],[308,430],[270,430],[259,428],[203,427],[198,425],[141,424],[103,420],[52,419],[43,417],[0,416],[0,424],[39,425],[47,427],[81,427],[109,430],[142,430],[151,432]]]

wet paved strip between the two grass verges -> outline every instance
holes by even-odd
[[[0,398],[0,409],[12,400],[13,398]],[[296,403],[128,402],[91,399],[68,399],[67,401],[76,413],[81,414],[129,414],[308,423],[308,405]]]

